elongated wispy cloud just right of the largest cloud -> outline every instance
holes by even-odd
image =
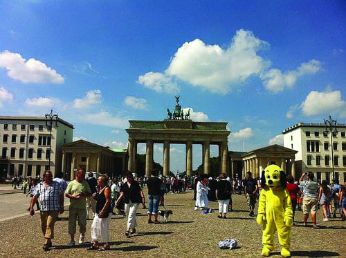
[[[277,93],[285,88],[293,88],[297,79],[303,75],[311,75],[318,72],[322,64],[318,60],[310,60],[302,63],[297,69],[282,73],[279,69],[271,69],[261,75],[263,84],[267,90]]]

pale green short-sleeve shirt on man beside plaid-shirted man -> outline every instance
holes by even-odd
[[[66,194],[76,196],[78,195],[78,192],[91,193],[89,184],[86,181],[82,181],[82,182],[78,182],[76,180],[71,181],[66,188]],[[80,199],[70,198],[70,208],[85,209],[86,208],[85,197],[80,197]]]

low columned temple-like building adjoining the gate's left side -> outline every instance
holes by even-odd
[[[124,175],[126,163],[126,149],[110,149],[82,139],[62,146],[62,171],[66,179],[75,179],[75,170],[79,168],[111,177]]]

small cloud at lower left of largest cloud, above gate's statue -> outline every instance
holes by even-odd
[[[178,93],[180,88],[172,78],[161,72],[147,72],[138,77],[137,83],[156,92]]]

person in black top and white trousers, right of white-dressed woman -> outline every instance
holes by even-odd
[[[219,175],[220,181],[217,182],[217,188],[215,190],[215,195],[219,201],[219,215],[217,217],[220,219],[227,218],[228,204],[230,203],[230,195],[232,194],[232,185],[226,178],[226,173]]]

